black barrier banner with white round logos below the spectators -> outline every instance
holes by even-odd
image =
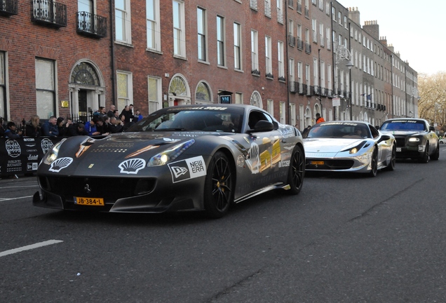
[[[37,166],[53,144],[62,137],[0,138],[0,175],[35,173]]]

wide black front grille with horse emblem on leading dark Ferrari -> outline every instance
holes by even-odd
[[[114,202],[119,198],[147,194],[153,191],[154,178],[123,177],[39,177],[43,189],[71,200],[73,196],[104,198]],[[88,187],[87,187],[88,184]]]

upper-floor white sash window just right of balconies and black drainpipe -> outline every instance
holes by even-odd
[[[114,1],[114,18],[116,41],[131,44],[130,0]]]

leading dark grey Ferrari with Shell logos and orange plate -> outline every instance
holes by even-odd
[[[41,161],[34,206],[115,213],[205,210],[281,189],[298,194],[302,135],[248,105],[161,109],[125,133],[69,137]]]

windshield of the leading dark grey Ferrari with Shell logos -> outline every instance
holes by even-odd
[[[135,123],[126,132],[201,130],[241,133],[243,108],[178,107],[160,110]]]

